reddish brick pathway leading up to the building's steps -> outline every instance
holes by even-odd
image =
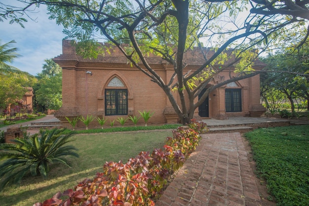
[[[203,134],[156,206],[260,206],[239,133]]]

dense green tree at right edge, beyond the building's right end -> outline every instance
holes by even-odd
[[[309,102],[309,76],[291,73],[309,74],[309,42],[303,46],[277,51],[275,55],[268,55],[263,61],[268,65],[266,72],[262,75],[261,86],[263,95],[268,95],[271,89],[284,94],[291,103],[292,114],[295,111],[294,101],[300,98]],[[273,72],[271,72],[273,71]],[[286,73],[278,72],[286,71]],[[269,89],[269,91],[268,91]],[[309,106],[309,103],[307,104]],[[309,108],[308,108],[309,109]]]

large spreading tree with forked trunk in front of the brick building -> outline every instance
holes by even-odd
[[[104,39],[116,45],[133,66],[159,85],[182,123],[193,118],[194,110],[214,89],[229,82],[258,74],[251,66],[260,51],[275,45],[285,29],[308,31],[308,0],[18,0],[24,6],[0,8],[0,18],[22,24],[20,14],[46,4],[50,18],[65,28],[65,34],[82,40],[77,51],[95,57],[101,50],[92,45]],[[250,12],[247,10],[250,8]],[[31,9],[31,10],[30,10]],[[24,15],[25,16],[25,15]],[[299,42],[307,39],[302,32]],[[214,48],[199,69],[184,73],[184,55],[193,46]],[[227,49],[234,48],[228,53]],[[200,51],[205,51],[202,48]],[[148,53],[174,66],[167,81],[150,66]],[[227,60],[232,58],[232,62]],[[225,63],[224,63],[225,62]],[[224,65],[222,67],[215,67]],[[194,99],[224,69],[235,69],[231,78],[207,87],[199,101]],[[177,91],[180,104],[173,91]],[[189,103],[185,101],[186,94]]]

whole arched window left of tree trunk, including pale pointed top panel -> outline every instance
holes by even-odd
[[[113,88],[115,87],[115,89]],[[123,87],[123,88],[121,88]],[[114,77],[105,89],[105,115],[128,114],[128,90],[117,77]]]

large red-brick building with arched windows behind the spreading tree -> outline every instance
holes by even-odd
[[[65,117],[85,117],[88,114],[113,120],[118,117],[126,118],[128,115],[140,116],[138,111],[143,110],[154,112],[149,124],[178,121],[162,89],[140,70],[131,67],[117,49],[97,59],[83,59],[76,55],[71,40],[63,40],[62,47],[62,54],[53,60],[62,67],[63,103],[62,108],[56,112],[56,117],[65,126],[69,127]],[[201,58],[196,50],[186,53],[185,58],[188,64],[186,70],[193,70],[201,65]],[[174,72],[172,65],[155,56],[150,56],[147,60],[163,79],[170,79]],[[264,67],[265,64],[259,61],[253,66],[256,70]],[[229,70],[217,75],[211,84],[227,78]],[[256,75],[212,91],[196,109],[194,117],[224,119],[260,116],[264,110],[260,104],[260,77]],[[98,126],[96,121],[90,125],[94,126]],[[82,123],[77,127],[82,127]]]

